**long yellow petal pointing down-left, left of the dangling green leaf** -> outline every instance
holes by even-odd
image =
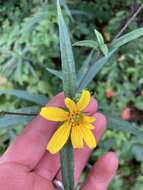
[[[57,153],[68,140],[70,130],[71,125],[69,125],[67,122],[60,126],[51,137],[51,140],[49,141],[47,146],[47,150],[49,150],[52,154]]]

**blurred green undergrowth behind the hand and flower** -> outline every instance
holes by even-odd
[[[96,40],[96,28],[107,44],[115,38],[142,3],[137,0],[69,0],[67,7],[62,2],[73,43]],[[0,1],[0,15],[0,89],[23,89],[48,98],[60,92],[61,80],[49,72],[49,68],[61,68],[57,13],[53,1]],[[142,18],[143,11],[132,21],[126,32],[143,26]],[[142,130],[143,126],[142,43],[143,38],[139,38],[121,48],[89,86],[100,103],[101,111],[108,116],[109,128],[99,147],[93,152],[81,180],[101,154],[114,150],[119,155],[120,167],[110,190],[143,189],[143,140],[136,130]],[[77,69],[90,51],[89,47],[74,46]],[[93,54],[91,62],[95,59]],[[29,96],[31,101],[27,102],[26,98],[21,100],[0,92],[0,110],[37,112],[40,107],[38,102],[46,102],[45,96]],[[22,117],[24,119],[18,117],[16,120],[15,116],[7,116],[5,124],[6,120],[2,120],[1,116],[1,154],[21,131],[23,125],[19,125],[19,121],[27,122],[26,116]],[[132,122],[132,127],[128,122],[118,119],[119,117]],[[131,128],[130,133],[128,128]]]

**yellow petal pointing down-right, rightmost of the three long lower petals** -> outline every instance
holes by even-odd
[[[80,126],[82,137],[85,141],[85,143],[88,145],[89,148],[95,148],[96,147],[96,139],[90,129],[87,129],[86,127]]]

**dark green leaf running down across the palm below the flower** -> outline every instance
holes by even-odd
[[[74,190],[74,156],[71,141],[65,144],[60,152],[62,181],[65,190]]]

